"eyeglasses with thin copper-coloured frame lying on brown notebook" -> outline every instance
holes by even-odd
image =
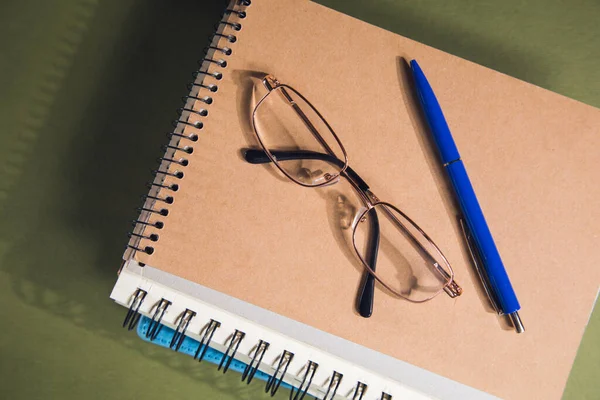
[[[363,289],[365,304],[372,307],[373,278],[392,294],[412,302],[430,300],[442,291],[459,296],[462,289],[438,246],[404,212],[373,194],[348,165],[342,142],[319,111],[271,75],[262,84],[267,94],[252,113],[262,150],[247,150],[245,159],[252,164],[273,163],[304,187],[333,185],[340,178],[350,183],[362,204],[350,227],[354,252],[369,274],[364,282],[371,280],[371,289]]]

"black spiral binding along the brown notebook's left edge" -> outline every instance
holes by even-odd
[[[237,42],[236,33],[242,29],[240,21],[246,18],[246,8],[250,4],[250,0],[238,0],[232,4],[232,7],[225,9],[221,21],[215,26],[214,34],[209,38],[209,45],[204,48],[204,57],[198,61],[199,68],[192,74],[194,80],[188,84],[189,92],[182,98],[183,107],[177,110],[178,118],[173,121],[174,130],[167,133],[169,143],[162,146],[164,155],[158,158],[159,166],[152,171],[154,180],[148,183],[149,193],[143,196],[142,207],[137,208],[140,216],[134,220],[134,228],[129,233],[130,240],[127,244],[127,248],[134,252],[151,255],[155,251],[152,243],[148,241],[157,242],[159,235],[152,230],[164,227],[166,222],[157,218],[167,216],[169,209],[164,206],[174,202],[173,195],[163,195],[161,192],[163,190],[176,192],[179,189],[178,184],[170,181],[183,179],[184,172],[181,169],[190,163],[185,155],[193,153],[192,144],[198,141],[199,131],[204,128],[204,122],[200,119],[208,116],[208,110],[198,107],[197,103],[202,102],[207,105],[213,103],[212,94],[219,90],[217,82],[223,79],[223,72],[215,69],[227,68],[227,60],[224,58],[233,54],[231,47],[220,42],[223,40],[228,43]],[[172,171],[173,165],[178,169]],[[156,207],[157,203],[161,203],[163,207]],[[145,233],[146,230],[151,232]],[[137,323],[139,318],[134,315]],[[132,322],[131,318],[128,323]]]

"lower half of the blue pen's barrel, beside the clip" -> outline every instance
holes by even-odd
[[[500,253],[498,253],[479,202],[475,197],[463,162],[461,160],[454,161],[446,166],[446,170],[460,203],[467,228],[479,250],[479,256],[486,266],[490,285],[498,297],[500,309],[504,314],[518,311],[521,306],[510,284]]]

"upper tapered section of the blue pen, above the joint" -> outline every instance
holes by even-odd
[[[440,153],[442,164],[458,160],[460,154],[458,154],[458,149],[452,139],[450,129],[444,118],[444,113],[442,113],[442,109],[433,93],[433,89],[429,85],[427,78],[425,78],[425,74],[423,74],[421,67],[417,64],[417,61],[412,60],[410,66],[415,80],[417,95],[421,102],[425,118],[427,119],[429,130],[431,131],[431,135],[433,136],[436,147]]]

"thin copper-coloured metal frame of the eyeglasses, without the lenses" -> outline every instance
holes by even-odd
[[[260,146],[262,147],[262,151],[252,150],[252,149],[247,150],[244,154],[246,161],[248,161],[252,164],[265,164],[265,163],[269,163],[269,162],[273,163],[277,167],[277,169],[279,169],[292,182],[294,182],[300,186],[303,186],[303,187],[312,187],[312,188],[323,187],[323,186],[328,186],[328,185],[337,183],[340,178],[346,179],[350,183],[352,188],[356,191],[356,193],[359,195],[362,203],[364,204],[364,210],[359,211],[357,213],[357,215],[354,218],[353,224],[352,224],[352,245],[354,248],[354,252],[356,253],[356,255],[359,258],[359,260],[361,261],[361,263],[363,264],[363,267],[365,268],[366,272],[370,276],[372,276],[375,280],[377,280],[377,282],[379,282],[384,288],[386,288],[388,291],[390,291],[392,294],[394,294],[395,296],[401,297],[401,298],[408,300],[410,302],[413,302],[413,303],[423,303],[425,301],[431,300],[432,298],[434,298],[438,294],[440,294],[442,291],[446,292],[448,294],[448,296],[450,296],[452,298],[460,296],[462,294],[462,288],[454,280],[454,270],[452,269],[450,262],[448,261],[446,256],[444,256],[444,254],[442,253],[440,248],[429,237],[429,235],[427,235],[425,233],[425,231],[423,229],[421,229],[421,227],[419,227],[419,225],[417,225],[408,215],[406,215],[404,212],[402,212],[398,207],[396,207],[390,203],[379,200],[379,198],[370,190],[367,183],[362,178],[360,178],[360,176],[349,166],[348,155],[347,155],[346,149],[344,148],[341,140],[339,139],[339,137],[337,136],[337,134],[335,133],[333,128],[331,128],[331,126],[329,125],[327,120],[312,105],[312,103],[308,99],[306,99],[296,89],[294,89],[293,87],[291,87],[289,85],[281,84],[272,75],[265,76],[262,80],[262,84],[267,89],[268,92],[259,100],[259,102],[256,104],[256,106],[254,107],[254,110],[252,112],[252,128],[254,130],[254,134],[255,134]],[[295,101],[293,100],[293,98],[289,95],[288,91],[292,92],[294,95],[296,95],[300,99],[302,99],[302,101],[304,101],[312,109],[312,111],[321,119],[321,121],[327,126],[327,128],[329,129],[333,138],[336,140],[338,146],[341,149],[342,155],[344,157],[343,160],[340,160],[337,158],[337,156],[335,155],[335,152],[327,144],[327,140],[325,140],[322,137],[322,135],[319,133],[319,131],[310,122],[310,120],[308,119],[308,117],[306,116],[304,111],[302,111],[301,107],[299,107],[298,104],[296,104]],[[319,152],[308,151],[308,150],[295,150],[295,151],[271,150],[267,147],[267,145],[264,143],[264,141],[257,129],[256,115],[257,115],[257,110],[265,102],[265,100],[269,96],[274,95],[276,92],[279,92],[284,97],[284,99],[290,103],[290,106],[294,108],[294,110],[296,111],[298,116],[305,123],[306,127],[311,131],[313,136],[315,136],[315,139],[325,148],[327,153],[319,153]],[[325,180],[323,182],[319,182],[319,183],[311,185],[311,184],[306,184],[304,182],[301,182],[301,181],[295,179],[289,172],[287,172],[279,164],[279,161],[305,160],[305,159],[317,159],[317,160],[327,161],[329,163],[332,163],[332,164],[338,166],[340,168],[340,170],[336,174],[326,174]],[[400,229],[403,233],[407,234],[409,239],[412,240],[412,242],[414,244],[416,244],[420,248],[420,250],[430,258],[431,266],[433,267],[433,270],[435,272],[437,272],[442,278],[444,278],[446,283],[435,293],[431,294],[429,297],[426,297],[424,299],[419,299],[419,300],[411,299],[411,298],[407,297],[406,295],[404,295],[402,292],[400,292],[400,291],[394,289],[393,287],[391,287],[390,285],[388,285],[385,282],[384,278],[382,278],[379,274],[377,274],[376,259],[377,259],[377,250],[379,247],[380,232],[379,232],[379,228],[378,228],[378,217],[377,217],[376,210],[379,210],[379,209],[383,209],[384,212],[387,213],[387,216],[391,217],[392,221],[394,221],[394,224],[396,225],[396,227],[398,229]],[[420,235],[423,236],[423,238],[427,241],[428,245],[431,246],[431,248],[433,248],[435,250],[435,252],[437,253],[437,255],[439,256],[440,260],[443,262],[444,265],[440,265],[437,261],[435,261],[436,258],[433,257],[431,255],[431,253],[421,245],[421,243],[419,242],[419,239],[417,237],[415,237],[412,233],[410,233],[410,231],[407,229],[407,227],[401,221],[399,221],[392,212],[390,212],[390,209],[395,211],[399,215],[401,215],[406,221],[409,222],[409,224],[414,229],[417,230],[417,232],[419,232]],[[356,231],[357,231],[358,224],[361,223],[361,221],[364,221],[366,219],[368,213],[372,212],[372,211],[375,211],[375,212],[373,212],[373,218],[371,218],[371,220],[374,221],[373,223],[377,225],[377,229],[374,229],[373,235],[375,235],[375,236],[372,237],[370,240],[371,248],[369,249],[370,251],[367,253],[367,258],[369,258],[369,260],[366,260],[362,256],[359,249],[357,248]]]

